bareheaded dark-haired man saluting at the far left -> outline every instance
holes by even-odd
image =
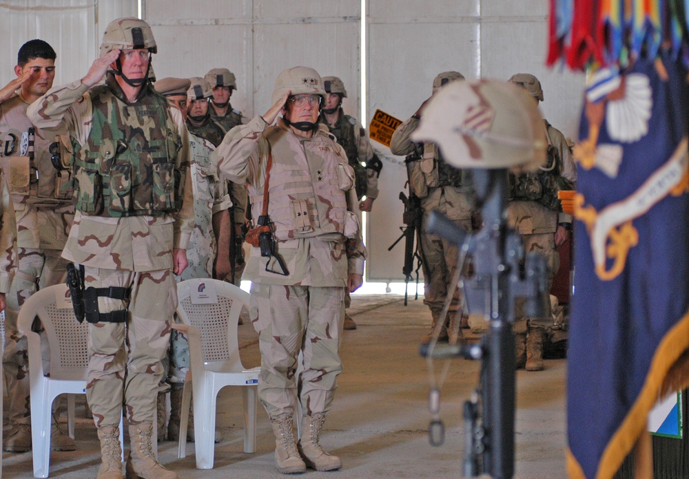
[[[17,78],[3,88],[0,97],[0,161],[19,228],[19,267],[7,297],[3,354],[11,427],[3,449],[14,452],[31,449],[27,344],[17,332],[19,308],[39,288],[65,280],[67,262],[60,253],[74,219],[72,191],[66,188],[69,172],[63,169],[60,159],[61,141],[34,127],[26,116],[29,104],[52,87],[55,58],[45,41],[32,40],[22,45],[14,67]],[[41,330],[38,322],[34,329]],[[51,436],[53,450],[76,448],[74,440],[58,429],[54,418]]]

